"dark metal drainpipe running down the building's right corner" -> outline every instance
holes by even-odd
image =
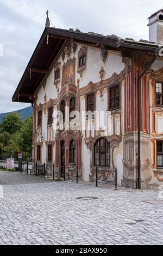
[[[156,57],[158,50],[154,51],[154,57],[151,62],[147,64],[145,69],[138,78],[138,142],[137,142],[137,188],[141,189],[141,79],[147,70],[152,66]]]

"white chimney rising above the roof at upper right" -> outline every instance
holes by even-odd
[[[163,44],[163,9],[156,11],[148,18],[149,41],[152,43]]]

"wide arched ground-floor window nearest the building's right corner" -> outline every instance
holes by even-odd
[[[102,138],[95,144],[95,166],[109,166],[110,167],[110,144],[108,140]]]

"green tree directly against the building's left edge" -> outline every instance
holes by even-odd
[[[33,138],[33,117],[28,117],[20,130],[19,146],[20,150],[28,154],[32,153],[32,138]]]

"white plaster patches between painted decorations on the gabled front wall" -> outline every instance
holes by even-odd
[[[122,62],[122,57],[119,52],[116,51],[109,51],[108,58],[106,59],[106,62],[104,63],[102,61],[101,57],[101,50],[97,49],[95,47],[87,46],[87,60],[86,60],[86,70],[83,73],[82,78],[80,78],[80,75],[77,73],[77,65],[78,65],[78,52],[83,47],[82,44],[78,44],[76,53],[72,53],[71,58],[76,58],[76,73],[75,73],[75,81],[77,85],[77,80],[80,80],[80,88],[87,86],[90,81],[92,82],[99,82],[101,79],[99,78],[99,72],[101,68],[103,67],[105,70],[105,76],[104,79],[111,78],[111,76],[114,73],[120,74],[122,70],[124,69],[125,65]],[[60,69],[60,82],[58,84],[59,91],[61,90],[61,81],[62,81],[62,66],[64,63],[67,62],[67,56],[65,57],[65,60],[62,61],[62,57],[60,56],[58,59],[55,60],[54,66],[57,62],[61,63],[61,69]],[[123,89],[122,89],[123,90]],[[124,90],[122,91],[123,97],[124,97]],[[45,103],[45,95],[46,95],[46,102],[48,102],[50,99],[57,99],[58,93],[57,89],[54,85],[54,67],[51,70],[51,73],[47,76],[47,82],[45,90],[43,90],[43,87],[40,86],[40,89],[37,92],[37,105],[44,104]],[[103,97],[100,97],[100,92],[97,92],[97,98],[96,98],[96,110],[98,111],[104,111],[106,114],[107,108],[108,108],[108,93],[106,91],[106,88],[103,90]],[[122,100],[123,106],[124,106],[124,100]],[[54,110],[56,110],[57,106],[54,107]],[[85,110],[85,99],[84,96],[81,97],[80,100],[80,109]],[[46,113],[42,114],[42,134],[45,134],[45,140],[47,140],[47,109]],[[55,138],[55,132],[56,132],[56,125],[57,121],[54,118],[53,122],[53,129],[54,129],[54,138]],[[99,122],[99,128],[102,126],[103,128],[106,128],[106,118],[104,117],[104,122]],[[109,131],[105,135],[112,135],[113,133],[113,124],[112,119],[109,119]],[[120,134],[120,122],[117,121],[116,123],[116,130],[118,135]],[[85,145],[85,130],[82,131],[83,134],[83,141],[82,141],[82,162],[83,162],[83,176],[84,180],[89,180],[89,174],[90,174],[90,158],[91,153],[90,150],[87,150]],[[94,135],[94,132],[92,133]],[[87,135],[89,136],[89,135]],[[55,147],[54,147],[54,154],[55,154]],[[120,160],[119,160],[120,158]],[[120,156],[118,156],[117,161],[121,161]],[[42,148],[42,162],[46,162],[46,145],[45,142],[43,143]],[[121,175],[120,175],[121,176]]]

